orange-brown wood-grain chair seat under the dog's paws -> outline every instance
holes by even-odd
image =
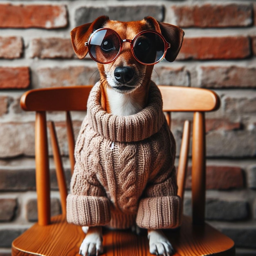
[[[183,216],[179,229],[165,230],[165,234],[175,249],[175,256],[235,255],[234,242],[230,238],[207,223],[192,225],[188,216]],[[12,255],[79,256],[84,237],[81,227],[68,224],[62,216],[55,216],[51,225],[35,224],[16,238]],[[128,231],[107,230],[103,246],[105,256],[152,256],[146,234],[137,236]]]

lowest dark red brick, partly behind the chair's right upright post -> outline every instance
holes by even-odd
[[[188,168],[186,189],[191,189],[191,168]],[[244,187],[243,170],[235,166],[207,166],[206,189],[241,189]]]

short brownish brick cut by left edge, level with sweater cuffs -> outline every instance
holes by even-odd
[[[0,221],[10,221],[15,216],[17,198],[0,198]]]

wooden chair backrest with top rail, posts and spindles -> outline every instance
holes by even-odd
[[[47,144],[47,111],[65,111],[67,117],[67,138],[71,170],[74,169],[74,133],[70,111],[84,111],[92,86],[73,86],[61,88],[36,89],[25,92],[20,105],[23,110],[35,111],[35,155],[36,190],[38,196],[38,224],[50,223],[50,182]],[[159,86],[163,97],[163,110],[170,124],[170,112],[194,112],[192,136],[192,212],[193,222],[204,222],[205,207],[205,119],[204,112],[217,110],[218,96],[206,89],[175,86]],[[63,218],[66,213],[67,186],[61,163],[61,154],[53,122],[49,122],[56,176],[61,195]],[[190,123],[184,123],[180,162],[177,171],[178,194],[183,198],[186,168],[189,154]]]

